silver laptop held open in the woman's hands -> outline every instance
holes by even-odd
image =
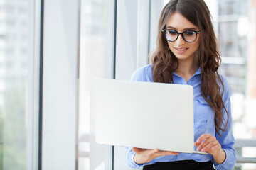
[[[105,145],[194,151],[193,87],[93,79],[95,140]]]

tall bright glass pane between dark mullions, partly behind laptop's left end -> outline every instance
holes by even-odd
[[[80,18],[78,169],[110,169],[111,147],[95,142],[90,84],[95,77],[112,79],[114,1],[82,0]]]

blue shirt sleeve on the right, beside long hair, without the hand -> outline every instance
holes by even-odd
[[[221,145],[222,149],[224,150],[226,157],[225,157],[225,161],[222,164],[217,164],[213,159],[213,164],[216,169],[228,170],[228,169],[233,169],[233,166],[235,166],[236,154],[235,154],[235,149],[233,148],[235,139],[234,139],[233,133],[232,133],[230,91],[228,88],[227,80],[224,77],[222,77],[222,79],[223,79],[223,85],[224,85],[224,87],[223,87],[224,88],[223,89],[223,91],[224,91],[223,103],[225,105],[225,108],[228,111],[228,115],[227,115],[227,113],[224,110],[223,116],[224,116],[225,120],[227,120],[227,118],[228,118],[228,125],[227,125],[227,129],[225,131],[220,130],[221,136],[218,135],[217,132],[215,132],[215,137],[218,140],[218,142],[220,142],[220,145]],[[222,128],[224,128],[223,125],[222,125]]]

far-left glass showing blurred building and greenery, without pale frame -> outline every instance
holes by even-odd
[[[28,11],[28,0],[0,1],[0,169],[26,169]]]

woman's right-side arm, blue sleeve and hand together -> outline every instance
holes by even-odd
[[[199,137],[195,143],[195,145],[198,147],[198,150],[208,152],[209,154],[213,155],[213,164],[215,165],[215,168],[220,170],[232,169],[236,162],[235,149],[233,148],[235,139],[232,134],[232,118],[230,114],[230,92],[228,83],[225,79],[223,79],[223,84],[223,102],[225,104],[225,108],[228,111],[228,117],[225,113],[225,110],[223,111],[223,116],[225,120],[228,118],[227,129],[225,131],[220,130],[221,136],[218,135],[217,132],[215,132],[215,137],[210,134],[201,135],[201,137]]]

